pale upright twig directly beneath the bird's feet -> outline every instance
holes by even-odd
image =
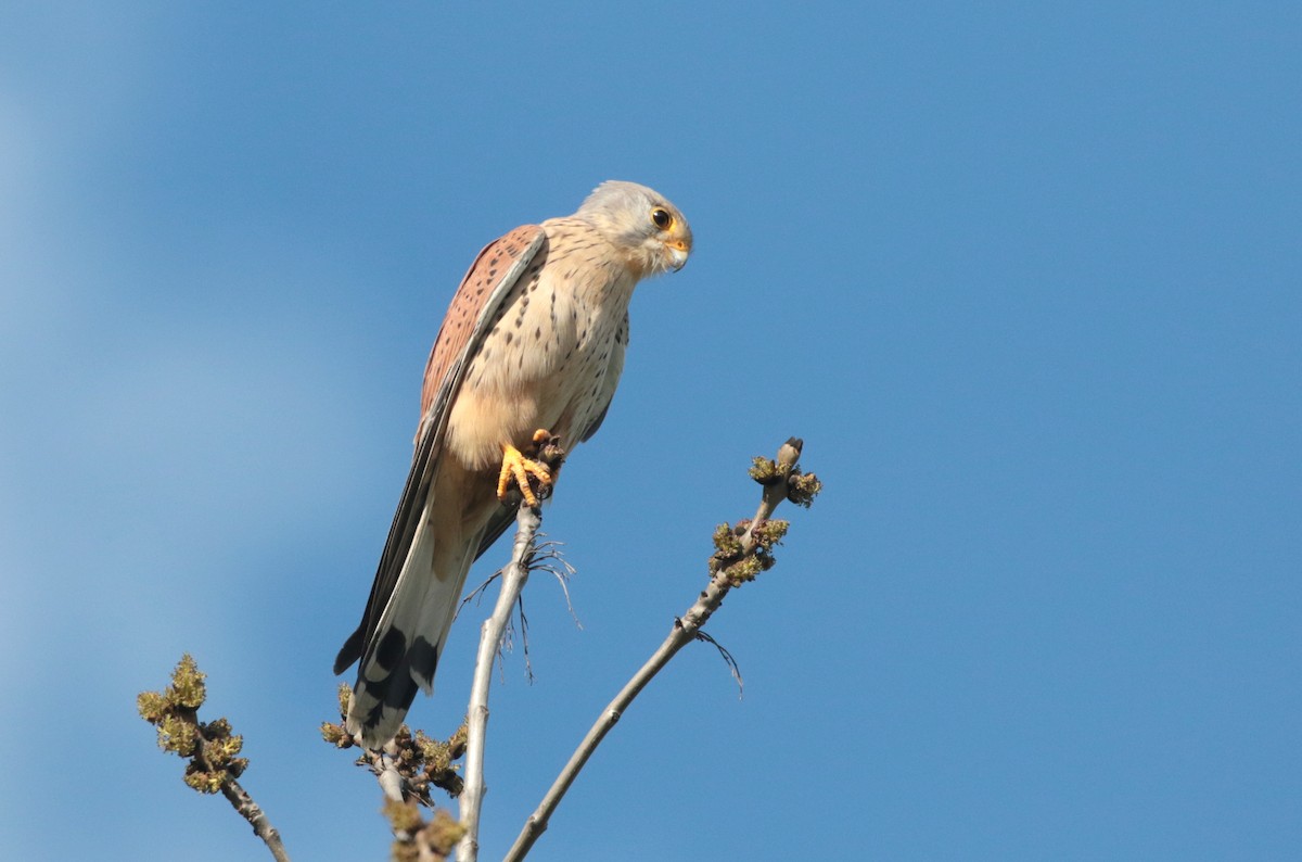
[[[461,824],[466,833],[457,845],[460,862],[479,858],[479,810],[483,806],[484,786],[484,734],[488,729],[488,688],[492,682],[493,658],[501,643],[503,632],[510,620],[512,608],[529,581],[529,563],[534,551],[534,538],[542,523],[536,507],[521,504],[516,516],[516,544],[510,563],[501,572],[501,592],[492,615],[479,630],[479,651],[475,656],[475,674],[470,686],[470,706],[466,712],[466,784],[461,792]]]

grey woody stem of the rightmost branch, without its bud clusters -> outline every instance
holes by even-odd
[[[773,509],[786,499],[789,492],[789,474],[792,473],[796,462],[799,460],[801,454],[801,441],[794,438],[779,449],[777,453],[777,471],[772,480],[764,483],[763,497],[760,499],[759,509],[755,512],[755,518],[750,522],[749,529],[740,536],[741,555],[747,556],[753,553],[756,548],[755,529],[758,525],[768,520],[773,513]],[[602,711],[600,717],[592,724],[583,741],[579,742],[574,754],[570,755],[569,762],[565,768],[561,770],[560,775],[556,776],[556,781],[547,790],[543,801],[539,803],[538,809],[529,816],[525,822],[525,827],[521,829],[519,836],[512,845],[510,850],[504,857],[505,862],[518,862],[525,858],[525,854],[534,846],[538,837],[547,829],[547,824],[551,820],[552,814],[556,811],[556,806],[560,805],[565,793],[569,790],[570,785],[574,784],[574,779],[578,777],[579,771],[583,764],[587,763],[592,753],[596,751],[596,746],[602,744],[605,734],[611,732],[611,728],[616,725],[624,711],[628,710],[633,699],[647,686],[648,682],[655,677],[660,669],[669,663],[678,650],[685,647],[697,639],[700,628],[710,620],[710,616],[719,609],[723,604],[724,596],[733,587],[733,581],[725,569],[719,569],[710,578],[708,586],[702,591],[700,598],[687,608],[687,612],[682,617],[673,621],[673,628],[669,632],[669,637],[664,639],[664,643],[651,655],[651,658],[633,674],[633,678],[625,684],[624,689],[611,701],[609,704]]]

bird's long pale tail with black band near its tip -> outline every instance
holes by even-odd
[[[458,542],[447,535],[437,536],[441,547],[436,547],[437,533],[430,518],[421,520],[358,665],[345,727],[349,733],[361,733],[367,747],[378,749],[393,738],[417,688],[434,693],[439,656],[479,547],[479,536]]]

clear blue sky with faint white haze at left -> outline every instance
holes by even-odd
[[[384,855],[316,727],[426,352],[486,241],[612,177],[697,249],[546,513],[583,629],[530,585],[486,858],[793,434],[827,490],[708,629],[745,698],[681,655],[535,858],[1295,853],[1299,39],[1295,4],[10,5],[0,857],[262,858],[135,717],[182,651],[296,858]]]

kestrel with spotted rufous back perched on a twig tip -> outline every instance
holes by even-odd
[[[536,505],[556,479],[530,457],[600,427],[643,279],[678,271],[691,228],[664,195],[609,180],[570,216],[490,242],[461,280],[421,388],[415,451],[375,582],[335,673],[358,663],[345,728],[370,749],[434,677],[471,564],[506,530],[513,490]],[[530,480],[539,486],[538,494]]]

